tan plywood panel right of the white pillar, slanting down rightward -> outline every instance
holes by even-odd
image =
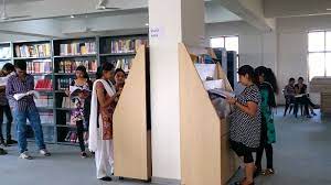
[[[227,120],[217,116],[184,44],[179,44],[179,58],[182,185],[225,184],[236,168],[227,141],[222,141]],[[228,84],[221,66],[217,70]]]

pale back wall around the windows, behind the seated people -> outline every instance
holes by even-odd
[[[288,18],[277,20],[277,30],[263,33],[245,22],[207,24],[207,36],[239,35],[241,65],[265,65],[275,70],[280,89],[290,77],[308,79],[308,31],[331,29],[331,17]],[[320,102],[318,94],[312,100]],[[278,102],[284,104],[282,95]]]

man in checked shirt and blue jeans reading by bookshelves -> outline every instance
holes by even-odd
[[[13,108],[20,159],[24,160],[32,160],[32,156],[28,153],[26,119],[29,119],[34,131],[35,142],[39,146],[40,153],[44,156],[51,155],[44,143],[40,115],[35,107],[33,95],[26,95],[21,99],[18,98],[19,100],[14,98],[14,95],[26,94],[31,90],[34,90],[34,78],[26,74],[26,63],[24,61],[18,61],[15,63],[15,75],[9,77],[6,94],[9,99],[9,104]]]

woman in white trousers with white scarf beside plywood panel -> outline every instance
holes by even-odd
[[[89,150],[95,152],[96,175],[102,181],[111,181],[114,163],[113,113],[120,91],[116,92],[110,79],[114,78],[114,65],[105,63],[97,72],[93,85]]]

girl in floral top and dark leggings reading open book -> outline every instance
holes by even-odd
[[[85,66],[78,66],[76,68],[76,79],[72,81],[70,91],[66,91],[75,105],[71,119],[77,127],[77,138],[83,159],[87,157],[84,142],[84,124],[87,128],[92,86],[93,84],[89,80]]]

